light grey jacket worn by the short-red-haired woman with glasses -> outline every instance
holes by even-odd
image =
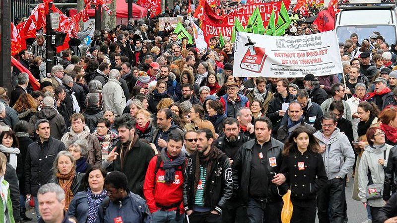
[[[384,184],[384,169],[387,166],[387,160],[392,147],[393,146],[388,144],[385,144],[381,148],[367,146],[361,156],[360,164],[358,165],[358,197],[360,198],[361,202],[367,202],[367,204],[371,207],[383,207],[385,205],[385,201],[383,198],[367,201],[366,189],[368,185],[368,169],[371,170],[371,178],[374,184]],[[386,151],[386,155],[384,154],[384,151]],[[379,164],[379,159],[385,159],[384,165]]]

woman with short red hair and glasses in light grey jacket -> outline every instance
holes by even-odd
[[[365,147],[358,167],[358,197],[364,206],[369,206],[372,222],[379,223],[378,211],[385,201],[381,195],[373,197],[368,190],[375,188],[374,184],[380,184],[381,187],[386,184],[385,169],[392,146],[385,143],[385,133],[378,127],[369,128],[366,138],[369,145]]]

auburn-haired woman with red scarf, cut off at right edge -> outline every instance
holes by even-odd
[[[397,107],[390,106],[385,108],[380,116],[381,129],[385,132],[386,144],[397,145]]]

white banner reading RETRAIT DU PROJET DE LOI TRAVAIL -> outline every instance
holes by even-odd
[[[343,72],[334,30],[304,36],[238,32],[233,75],[303,77]]]

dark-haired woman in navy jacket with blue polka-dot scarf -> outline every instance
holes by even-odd
[[[78,223],[95,223],[98,218],[98,207],[107,198],[103,189],[106,170],[99,166],[87,169],[83,179],[84,191],[78,192],[70,202],[67,216]]]

